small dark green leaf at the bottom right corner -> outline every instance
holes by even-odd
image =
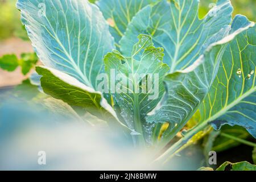
[[[239,163],[225,162],[216,171],[256,171],[256,166],[246,161]]]

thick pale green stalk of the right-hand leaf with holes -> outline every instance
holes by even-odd
[[[199,125],[193,127],[193,129],[189,130],[187,134],[175,144],[173,144],[166,152],[160,155],[154,162],[156,163],[166,163],[172,157],[173,154],[185,144],[187,144],[188,140],[191,139],[195,134],[199,131],[203,130],[205,127],[208,126],[208,122],[199,123]]]

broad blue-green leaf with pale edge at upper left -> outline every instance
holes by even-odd
[[[103,57],[114,48],[98,7],[84,0],[19,0],[17,7],[43,64],[96,89]]]

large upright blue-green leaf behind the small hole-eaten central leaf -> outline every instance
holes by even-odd
[[[218,32],[232,19],[229,0],[218,1],[204,19],[198,18],[198,8],[197,0],[164,0],[144,7],[131,20],[120,41],[122,53],[131,52],[139,34],[148,34],[155,46],[164,48],[164,63],[170,66],[170,72],[187,68],[211,43],[225,36]]]

